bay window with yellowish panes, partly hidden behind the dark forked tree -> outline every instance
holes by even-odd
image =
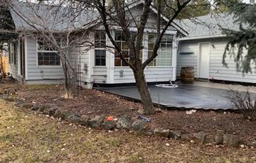
[[[127,62],[130,62],[130,49],[121,31],[115,31],[115,42],[121,47],[124,58]],[[142,60],[142,50],[139,54]],[[115,50],[115,67],[126,67],[128,66],[123,60],[121,60],[119,53]]]

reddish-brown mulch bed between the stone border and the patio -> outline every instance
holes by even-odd
[[[6,88],[16,89],[14,96],[19,100],[28,103],[52,103],[64,110],[88,114],[91,117],[113,115],[114,118],[120,118],[127,114],[136,119],[139,115],[137,110],[142,109],[141,103],[133,103],[94,89],[82,89],[74,100],[64,100],[61,85],[0,84],[0,90]],[[224,130],[246,140],[256,139],[256,121],[247,121],[243,119],[242,114],[201,110],[194,114],[186,114],[185,110],[162,110],[148,118],[152,118],[148,123],[150,129],[177,129],[188,134],[204,131],[211,138],[217,130]]]

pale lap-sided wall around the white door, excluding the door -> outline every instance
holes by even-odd
[[[181,67],[194,66],[196,78],[198,77],[199,67],[199,43],[210,42],[210,76],[211,79],[230,81],[230,82],[256,82],[256,71],[252,68],[252,74],[242,74],[236,71],[236,63],[233,56],[226,57],[228,67],[223,66],[222,56],[227,43],[226,38],[211,38],[192,41],[181,41],[177,55],[177,75],[180,74]],[[181,52],[193,52],[191,55],[181,55]],[[247,53],[247,51],[244,51]],[[252,65],[255,65],[254,63]]]

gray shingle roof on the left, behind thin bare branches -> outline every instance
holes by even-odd
[[[59,5],[38,5],[18,1],[13,1],[10,13],[16,29],[20,31],[35,31],[35,27],[37,29],[46,27],[46,29],[53,31],[66,31],[82,27],[82,25],[97,19],[97,13],[92,10],[79,11]],[[31,25],[35,27],[31,27]]]

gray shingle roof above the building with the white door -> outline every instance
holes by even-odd
[[[229,13],[210,13],[175,22],[188,31],[188,37],[184,39],[223,37],[221,27],[239,30],[239,24],[234,23],[233,15]]]

